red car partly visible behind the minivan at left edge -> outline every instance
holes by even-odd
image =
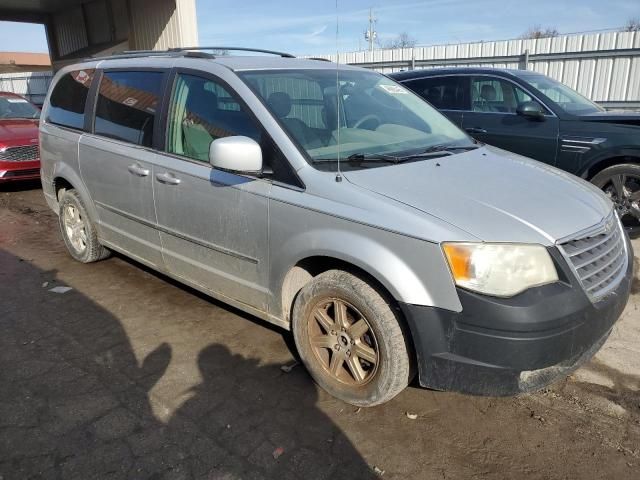
[[[20,95],[0,92],[0,183],[40,177],[39,117]]]

